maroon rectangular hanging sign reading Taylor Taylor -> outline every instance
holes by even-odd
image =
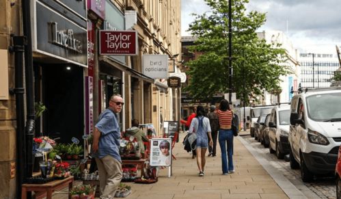
[[[137,33],[100,30],[100,55],[137,55]]]

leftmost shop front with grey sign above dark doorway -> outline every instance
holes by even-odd
[[[70,143],[84,134],[87,21],[84,1],[33,1],[32,50],[35,101],[46,109],[36,136]],[[41,106],[37,107],[37,109]]]

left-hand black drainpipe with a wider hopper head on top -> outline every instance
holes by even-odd
[[[14,54],[15,62],[15,88],[16,95],[16,198],[21,198],[21,185],[25,179],[25,109],[24,109],[24,81],[23,81],[23,53],[26,38],[24,36],[11,36],[13,46],[10,52]]]

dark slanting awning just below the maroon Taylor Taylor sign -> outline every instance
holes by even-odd
[[[154,83],[154,79],[142,74],[141,72],[134,70],[133,68],[129,68],[128,66],[124,66],[122,63],[115,61],[114,59],[111,59],[110,57],[99,55],[98,59],[101,62],[106,62],[110,64],[111,66],[114,66],[115,68],[118,68],[119,70],[122,70],[123,72],[126,72],[126,74],[131,75],[131,77],[135,77],[137,79],[141,79],[143,81],[146,81],[148,83]]]

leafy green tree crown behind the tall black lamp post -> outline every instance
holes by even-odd
[[[204,0],[209,14],[193,14],[189,31],[196,37],[192,52],[203,53],[188,63],[189,85],[185,91],[195,99],[210,99],[217,92],[227,92],[228,85],[228,1]],[[265,14],[246,13],[248,0],[232,1],[232,90],[245,101],[268,92],[278,91],[279,76],[288,74],[286,53],[279,45],[267,44],[256,30],[266,21]]]

